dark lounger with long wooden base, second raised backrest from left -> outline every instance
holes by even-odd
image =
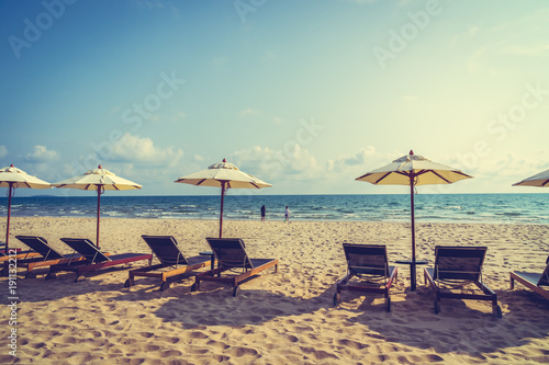
[[[85,238],[61,238],[61,241],[85,256],[86,260],[49,266],[49,273],[46,275],[46,281],[55,278],[58,272],[70,271],[76,273],[76,283],[78,278],[87,272],[143,260],[148,260],[148,264],[150,265],[153,261],[153,255],[150,253],[121,253],[108,256],[99,251],[90,240]]]

